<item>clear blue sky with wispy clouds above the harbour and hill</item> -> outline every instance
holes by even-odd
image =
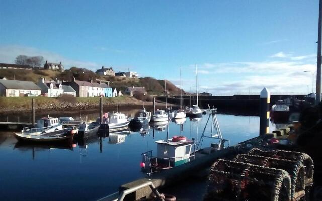
[[[0,1],[0,63],[19,54],[130,69],[214,94],[312,90],[318,1]],[[314,80],[315,81],[315,80]]]

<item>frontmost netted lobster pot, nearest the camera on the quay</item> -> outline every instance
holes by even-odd
[[[204,200],[290,200],[290,186],[284,170],[220,159],[211,167]]]

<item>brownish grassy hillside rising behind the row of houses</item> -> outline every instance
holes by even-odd
[[[52,70],[22,70],[22,69],[0,69],[0,76],[4,76],[7,79],[25,80],[37,82],[39,77],[45,77],[46,80],[68,80],[72,79],[72,75],[76,80],[89,81],[90,79],[95,80],[102,79],[108,80],[112,88],[117,88],[118,90],[124,91],[126,86],[137,86],[145,87],[145,89],[150,94],[164,94],[165,83],[164,80],[157,80],[152,77],[142,77],[142,78],[128,78],[128,77],[110,77],[110,76],[100,76],[91,70],[84,68],[72,67],[64,72],[52,71]],[[167,82],[167,90],[170,94],[179,94],[180,89],[178,89],[170,81]]]

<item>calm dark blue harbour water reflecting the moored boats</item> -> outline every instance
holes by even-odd
[[[134,116],[137,110],[121,111]],[[82,116],[94,119],[98,114]],[[21,119],[28,117],[21,117]],[[75,115],[75,118],[78,118]],[[186,118],[182,135],[199,140],[208,114],[200,120]],[[258,116],[218,114],[224,139],[230,145],[258,136]],[[271,124],[271,123],[270,123]],[[270,125],[271,130],[275,125]],[[180,135],[181,126],[169,124],[169,137]],[[210,132],[210,124],[206,134]],[[154,132],[153,132],[154,130]],[[153,135],[154,133],[154,135]],[[2,200],[96,200],[118,191],[126,182],[147,176],[141,172],[141,153],[153,150],[156,140],[166,139],[167,126],[145,131],[93,137],[76,146],[19,144],[12,132],[0,131],[0,197]],[[204,138],[202,147],[216,142]]]

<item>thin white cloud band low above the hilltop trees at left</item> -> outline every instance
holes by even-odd
[[[44,59],[48,60],[49,62],[61,62],[65,68],[76,66],[80,68],[95,70],[96,68],[100,67],[95,62],[73,60],[63,57],[54,52],[19,45],[8,45],[0,47],[0,62],[14,63],[15,58],[20,54],[27,56],[43,56]]]

